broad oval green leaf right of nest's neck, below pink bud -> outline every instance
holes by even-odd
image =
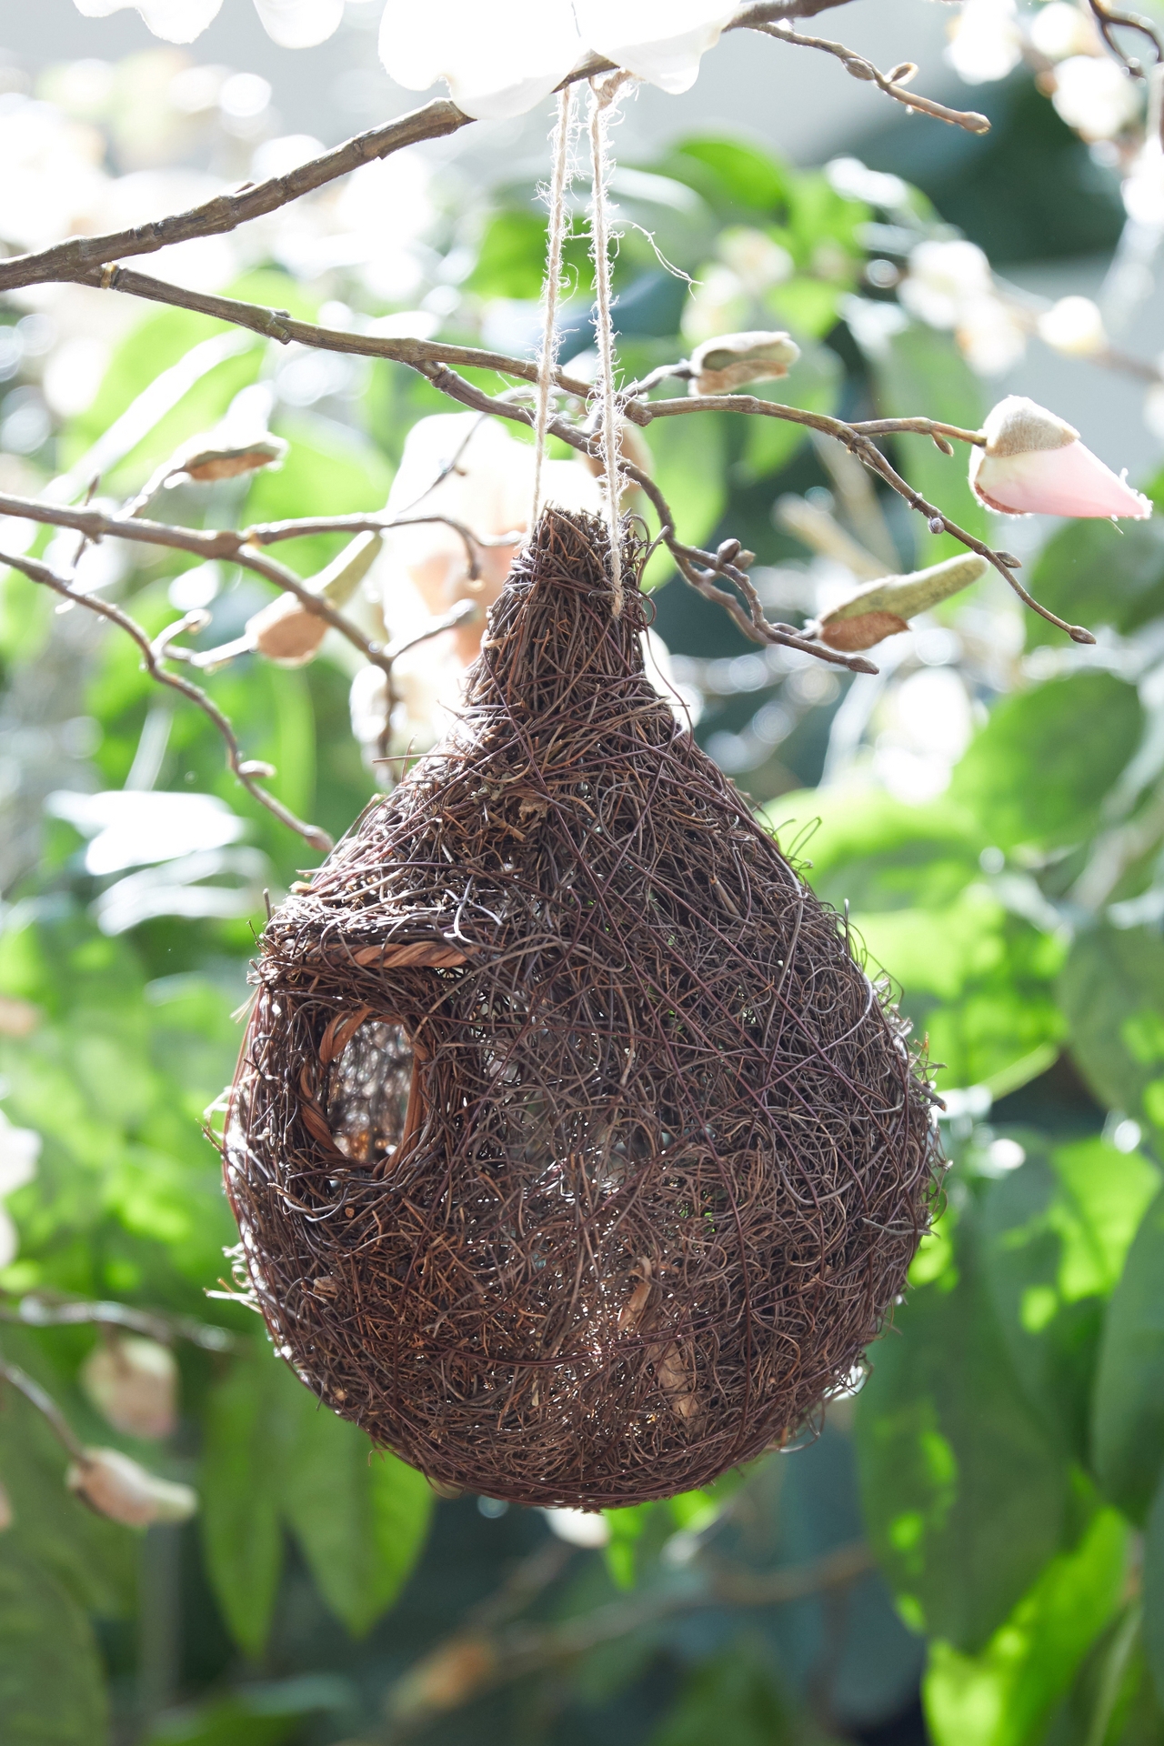
[[[1108,672],[1051,679],[996,705],[955,770],[949,798],[1000,849],[1077,843],[1096,829],[1141,732],[1133,684]]]

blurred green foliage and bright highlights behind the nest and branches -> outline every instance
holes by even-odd
[[[188,47],[133,9],[0,7],[0,246],[176,211],[414,108],[380,68],[380,10],[347,0],[293,51],[250,0]],[[1164,503],[1155,75],[1133,77],[1077,0],[852,0],[806,28],[883,70],[916,61],[918,91],[984,112],[989,134],[743,31],[686,96],[642,89],[613,180],[625,375],[787,328],[801,358],[770,398],[979,428],[1030,395]],[[1119,42],[1154,61],[1147,35]],[[532,356],[548,126],[466,127],[148,271]],[[593,368],[585,208],[579,175],[574,374]],[[202,527],[342,515],[471,436],[476,513],[508,531],[529,449],[497,426],[478,459],[471,416],[438,442],[422,421],[452,410],[403,365],[190,311],[82,286],[0,299],[9,496],[115,508],[148,489],[150,515]],[[276,466],[159,484],[190,445],[265,435]],[[808,623],[958,550],[796,426],[665,419],[647,443],[681,536],[740,538],[771,618]],[[750,644],[651,560],[658,660],[899,986],[953,1163],[866,1386],[794,1451],[604,1516],[438,1500],[368,1463],[229,1301],[236,1233],[202,1124],[222,1117],[264,892],[318,857],[126,639],[3,571],[0,1348],[82,1444],[199,1495],[181,1523],[99,1519],[0,1383],[5,1746],[1164,1739],[1164,536],[1003,522],[963,456],[918,436],[892,456],[1098,641],[1068,643],[991,573],[852,677]],[[588,501],[583,464],[555,463],[555,489]],[[0,552],[47,555],[150,636],[202,611],[202,653],[246,643],[274,599],[236,566],[79,546],[16,513]],[[281,552],[302,576],[347,562],[332,534]],[[398,637],[473,592],[440,543],[389,536],[351,613]],[[384,746],[440,735],[476,636],[403,658],[391,719],[333,632],[302,663],[251,646],[206,683],[274,793],[339,836],[400,768]]]

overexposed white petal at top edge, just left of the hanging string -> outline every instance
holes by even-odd
[[[398,86],[448,82],[454,103],[478,120],[524,115],[583,52],[569,0],[387,0],[380,59]]]

